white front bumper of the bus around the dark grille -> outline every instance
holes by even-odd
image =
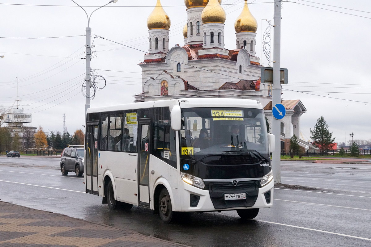
[[[180,181],[181,194],[181,211],[183,212],[206,212],[206,211],[224,211],[224,210],[236,210],[244,208],[268,208],[273,206],[273,179],[265,186],[259,188],[255,204],[252,207],[229,207],[229,208],[215,208],[210,198],[209,190],[203,190],[190,184]],[[266,193],[270,191],[269,200],[266,199]],[[191,194],[196,197],[199,196],[197,206],[193,204],[191,207]],[[267,201],[269,203],[267,203]]]

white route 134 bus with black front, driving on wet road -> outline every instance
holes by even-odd
[[[186,98],[88,109],[86,193],[114,209],[174,212],[237,210],[241,218],[273,206],[262,104]],[[176,214],[176,213],[175,213]]]

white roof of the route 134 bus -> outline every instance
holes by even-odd
[[[102,111],[121,111],[134,110],[153,107],[166,107],[178,104],[181,108],[196,108],[196,107],[239,107],[239,108],[256,108],[263,109],[262,104],[256,100],[247,99],[228,99],[228,98],[181,98],[173,100],[157,100],[147,102],[137,102],[129,104],[121,104],[116,106],[103,106],[89,108],[88,113],[97,113]]]

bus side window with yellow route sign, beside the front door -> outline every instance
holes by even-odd
[[[124,131],[122,133],[121,150],[125,153],[137,153],[138,121],[137,112],[124,114]]]

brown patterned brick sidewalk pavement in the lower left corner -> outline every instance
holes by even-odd
[[[0,246],[180,247],[154,237],[0,202]]]

